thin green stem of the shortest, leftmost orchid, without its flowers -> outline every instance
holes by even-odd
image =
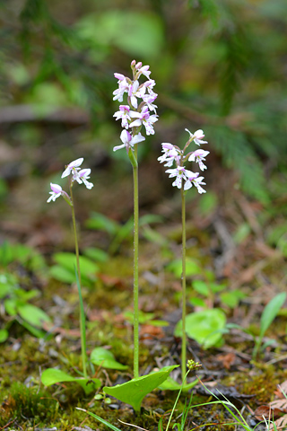
[[[81,291],[81,269],[80,269],[80,254],[79,254],[79,244],[77,237],[77,229],[75,224],[75,216],[74,216],[74,198],[72,192],[73,184],[70,184],[70,197],[72,202],[72,220],[73,220],[73,230],[74,230],[74,249],[75,249],[75,258],[77,264],[77,274],[76,281],[78,286],[79,293],[79,303],[80,303],[80,330],[81,330],[81,349],[82,349],[82,362],[83,362],[83,376],[87,377],[87,366],[86,366],[86,329],[85,329],[85,315],[83,310],[83,297]]]

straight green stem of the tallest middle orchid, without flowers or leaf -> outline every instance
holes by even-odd
[[[138,322],[138,168],[133,164],[134,177],[134,378],[139,376]]]

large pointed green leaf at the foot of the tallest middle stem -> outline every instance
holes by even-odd
[[[130,404],[135,411],[139,411],[145,395],[153,391],[153,389],[158,388],[161,383],[169,377],[170,372],[178,366],[179,365],[165,366],[161,371],[143,375],[143,377],[138,377],[129,382],[117,384],[117,386],[110,388],[108,386],[104,386],[103,391],[108,393],[108,395],[117,398],[117,400]]]

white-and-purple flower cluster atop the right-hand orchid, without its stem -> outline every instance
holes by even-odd
[[[173,163],[176,163],[177,167],[173,169],[168,169],[166,172],[170,173],[170,178],[175,178],[172,185],[181,189],[184,184],[184,189],[190,189],[195,186],[199,193],[205,193],[202,188],[204,183],[204,177],[199,176],[199,172],[191,172],[186,169],[184,163],[196,162],[199,165],[199,169],[204,171],[207,167],[204,164],[205,156],[209,154],[209,151],[204,151],[198,149],[191,153],[185,155],[188,145],[193,141],[196,145],[207,144],[207,141],[203,141],[204,132],[203,130],[196,130],[192,134],[187,128],[186,131],[189,133],[189,139],[183,150],[180,150],[177,145],[172,145],[170,143],[163,143],[162,145],[162,155],[158,158],[160,163],[165,163],[164,166],[171,167]],[[183,183],[184,181],[184,183]]]

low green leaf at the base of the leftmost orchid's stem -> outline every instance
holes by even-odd
[[[64,371],[57,370],[57,368],[47,368],[41,375],[41,382],[45,386],[51,386],[51,384],[62,383],[62,382],[74,382],[80,384],[86,394],[91,393],[97,388],[100,388],[99,379],[90,378],[79,378],[73,375],[64,373]]]

